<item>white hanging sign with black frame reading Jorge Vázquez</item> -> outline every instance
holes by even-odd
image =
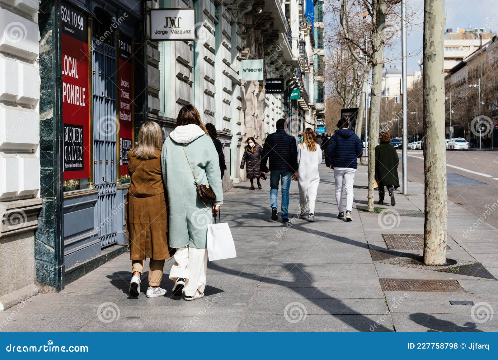
[[[151,9],[150,40],[195,40],[195,19],[194,7]]]

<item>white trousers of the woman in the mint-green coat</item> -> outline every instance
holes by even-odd
[[[175,263],[169,272],[169,278],[176,281],[185,278],[185,295],[194,296],[197,291],[204,293],[206,274],[208,272],[208,252],[190,246],[176,249]]]

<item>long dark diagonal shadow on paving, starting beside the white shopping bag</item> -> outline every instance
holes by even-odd
[[[367,316],[365,316],[357,311],[352,310],[344,301],[337,299],[337,298],[334,298],[334,297],[331,297],[329,294],[324,293],[318,287],[316,288],[316,291],[315,291],[316,298],[306,297],[307,294],[309,293],[309,288],[311,286],[305,285],[305,284],[303,284],[303,286],[301,286],[301,287],[293,287],[292,286],[292,285],[295,285],[296,282],[300,281],[299,278],[306,278],[306,281],[310,284],[315,283],[313,280],[313,275],[305,270],[306,265],[304,265],[304,264],[299,264],[299,263],[298,264],[285,264],[283,266],[283,268],[288,271],[287,273],[292,274],[292,276],[294,277],[294,279],[292,281],[281,280],[281,279],[279,280],[279,279],[267,277],[264,275],[253,274],[253,273],[246,272],[246,271],[234,271],[232,269],[229,269],[229,268],[217,265],[217,264],[211,264],[210,268],[211,268],[211,270],[217,270],[217,271],[221,271],[221,272],[224,272],[227,274],[234,274],[234,275],[242,276],[242,277],[245,277],[248,279],[258,279],[260,282],[264,282],[267,284],[275,284],[275,285],[289,288],[289,289],[295,291],[296,294],[300,295],[301,297],[306,298],[307,300],[313,302],[316,306],[322,308],[323,310],[328,312],[330,315],[334,316],[337,320],[351,326],[352,328],[354,328],[358,331],[365,331],[366,328],[373,328],[374,330],[378,329],[378,331],[393,332],[393,330],[391,330],[388,326],[374,327],[373,326],[375,324],[374,320],[368,318]],[[302,280],[300,282],[302,282]],[[330,311],[330,308],[325,307],[323,302],[320,301],[323,299],[327,299],[327,300],[332,301],[332,303],[329,303],[331,308],[344,309],[344,310],[341,312],[341,314],[332,313]],[[345,314],[346,309],[350,310],[347,314]],[[355,316],[351,316],[351,315],[355,315]],[[379,314],[379,317],[380,316],[382,316],[382,314]],[[331,324],[330,326],[332,327],[333,324]]]

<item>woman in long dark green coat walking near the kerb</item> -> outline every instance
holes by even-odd
[[[378,204],[384,204],[385,186],[391,197],[391,206],[394,206],[396,204],[394,189],[399,187],[398,153],[391,145],[391,136],[388,132],[381,132],[379,140],[380,144],[375,147],[375,180],[378,184]]]

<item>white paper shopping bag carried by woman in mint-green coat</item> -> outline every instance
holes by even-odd
[[[228,223],[209,224],[207,240],[209,261],[237,258],[234,238]]]

